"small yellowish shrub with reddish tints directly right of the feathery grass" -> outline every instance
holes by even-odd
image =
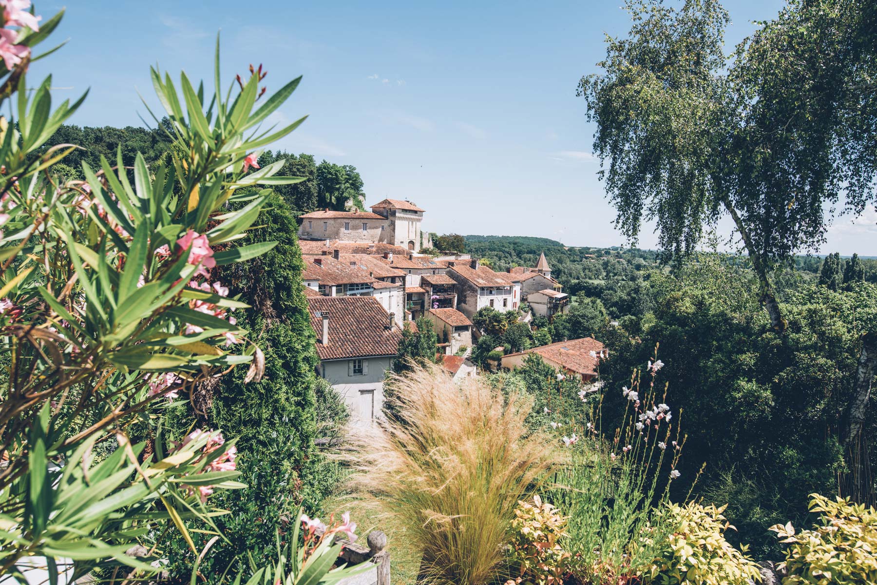
[[[570,556],[560,544],[567,535],[567,518],[552,504],[533,496],[533,503],[517,503],[511,527],[514,538],[509,556],[517,576],[505,585],[562,583]]]

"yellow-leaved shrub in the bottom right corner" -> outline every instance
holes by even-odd
[[[810,495],[811,512],[821,512],[814,530],[795,533],[792,523],[770,530],[790,545],[784,585],[853,585],[877,582],[877,510],[849,499]]]

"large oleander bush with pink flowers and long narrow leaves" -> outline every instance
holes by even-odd
[[[185,74],[175,85],[153,69],[168,118],[161,127],[174,143],[168,156],[147,167],[138,153],[126,168],[120,147],[114,162],[83,163],[85,181],[68,180],[53,165],[75,146],[42,146],[85,96],[53,111],[51,77],[31,90],[27,68],[40,57],[32,49],[62,14],[42,23],[29,7],[0,0],[0,105],[10,112],[0,117],[0,362],[7,372],[0,574],[21,577],[21,561],[41,557],[52,572],[58,560],[72,559],[68,581],[108,565],[130,567],[120,580],[140,579],[157,570],[151,562],[169,528],[203,558],[187,521],[216,531],[210,518],[223,510],[210,507],[210,495],[243,487],[234,481],[233,441],[196,430],[168,448],[161,415],[169,400],[191,399],[199,384],[233,367],[248,367],[247,382],[263,374],[264,355],[232,315],[247,305],[228,296],[214,270],[275,246],[237,243],[271,195],[256,186],[300,181],[277,176],[283,161],[255,162],[261,148],[301,123],[260,130],[298,80],[258,105],[266,92],[261,71],[223,89],[218,42],[213,96]],[[132,424],[138,433],[146,426],[151,439],[132,444]],[[146,558],[125,554],[150,542]]]

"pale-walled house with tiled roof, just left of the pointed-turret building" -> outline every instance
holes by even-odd
[[[457,309],[470,319],[483,307],[500,312],[516,310],[521,303],[517,275],[494,272],[478,260],[448,262],[447,273],[457,283]]]

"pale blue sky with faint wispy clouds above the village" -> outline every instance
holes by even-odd
[[[68,5],[55,33],[68,45],[33,70],[53,73],[56,95],[91,88],[75,124],[141,125],[149,65],[210,82],[221,30],[225,81],[249,63],[267,68],[269,91],[303,75],[275,121],[310,118],[277,146],[354,165],[367,203],[410,199],[433,232],[613,246],[624,239],[575,88],[604,34],[628,30],[618,4],[89,0]],[[728,42],[781,4],[726,3]],[[44,18],[61,5],[36,4]],[[823,252],[877,252],[875,221],[838,219]],[[646,229],[640,246],[654,241]]]

